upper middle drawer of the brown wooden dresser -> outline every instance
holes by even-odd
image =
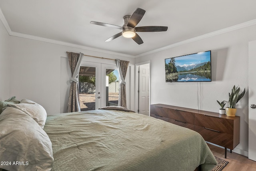
[[[169,119],[194,125],[194,113],[177,109],[168,110]],[[177,124],[178,125],[178,124]]]

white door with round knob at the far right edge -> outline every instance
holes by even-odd
[[[248,158],[256,161],[256,41],[249,42]],[[255,106],[254,106],[255,105]]]

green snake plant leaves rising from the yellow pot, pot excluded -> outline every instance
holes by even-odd
[[[232,88],[232,92],[228,93],[228,95],[229,95],[228,107],[229,108],[236,108],[236,103],[244,96],[245,88],[241,94],[239,94],[239,92],[240,92],[240,88],[236,87],[234,85],[234,87]]]

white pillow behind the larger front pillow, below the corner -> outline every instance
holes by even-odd
[[[42,127],[42,129],[44,129],[47,113],[44,107],[40,104],[28,99],[22,99],[20,103],[8,104],[8,106],[14,107],[28,114],[38,123],[38,125],[40,125],[40,127]]]

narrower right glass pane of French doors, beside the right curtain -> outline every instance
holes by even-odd
[[[119,95],[118,71],[106,69],[106,106],[117,106]]]

